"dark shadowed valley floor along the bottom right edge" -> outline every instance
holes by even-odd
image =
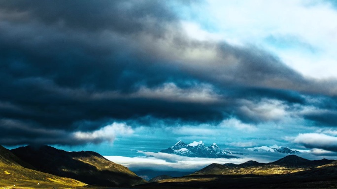
[[[143,189],[336,189],[336,178],[296,175],[195,175],[137,186]]]

